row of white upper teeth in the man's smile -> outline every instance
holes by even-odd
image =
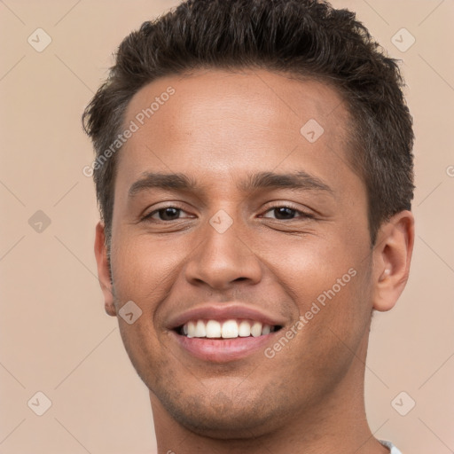
[[[217,320],[208,320],[207,322],[204,320],[192,320],[183,326],[183,333],[187,337],[235,339],[251,335],[253,337],[265,336],[271,333],[271,326],[248,320],[239,322],[231,319],[223,323]]]

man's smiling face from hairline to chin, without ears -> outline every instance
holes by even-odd
[[[340,96],[267,71],[200,71],[137,92],[131,121],[106,309],[142,311],[118,318],[152,401],[204,434],[313,410],[357,373],[372,311]]]

